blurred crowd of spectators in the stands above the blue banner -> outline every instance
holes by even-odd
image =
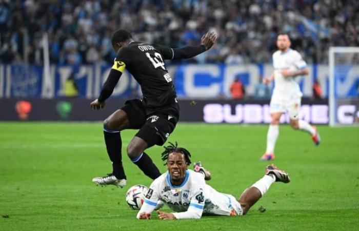
[[[124,28],[172,47],[214,30],[214,49],[185,62],[228,64],[270,62],[284,31],[307,62],[324,63],[329,46],[359,45],[356,12],[356,0],[0,0],[0,62],[42,64],[48,31],[51,63],[111,63],[110,36]]]

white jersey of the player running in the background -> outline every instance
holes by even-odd
[[[302,97],[302,92],[294,77],[284,78],[281,74],[282,69],[290,71],[299,70],[307,67],[302,55],[296,50],[288,49],[286,52],[277,50],[273,53],[274,66],[274,90],[273,97],[297,98]]]

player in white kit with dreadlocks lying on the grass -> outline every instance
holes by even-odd
[[[166,161],[168,171],[152,182],[137,219],[150,219],[158,200],[175,211],[166,213],[157,210],[159,219],[163,220],[200,219],[202,215],[245,215],[272,183],[290,182],[285,171],[268,165],[266,175],[236,200],[232,195],[218,192],[206,184],[205,180],[210,179],[210,173],[200,162],[194,164],[194,171],[189,170],[190,157],[189,151],[177,147],[177,143],[165,147],[162,160]]]

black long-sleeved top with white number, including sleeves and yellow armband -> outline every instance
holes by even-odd
[[[163,112],[177,115],[176,91],[164,60],[189,59],[206,51],[204,45],[169,48],[141,42],[130,42],[119,49],[109,76],[98,97],[104,102],[113,92],[125,68],[141,86],[146,113]]]

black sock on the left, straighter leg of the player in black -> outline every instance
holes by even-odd
[[[126,179],[125,170],[122,166],[122,140],[120,132],[104,131],[105,143],[108,156],[112,161],[112,174],[117,179]]]

